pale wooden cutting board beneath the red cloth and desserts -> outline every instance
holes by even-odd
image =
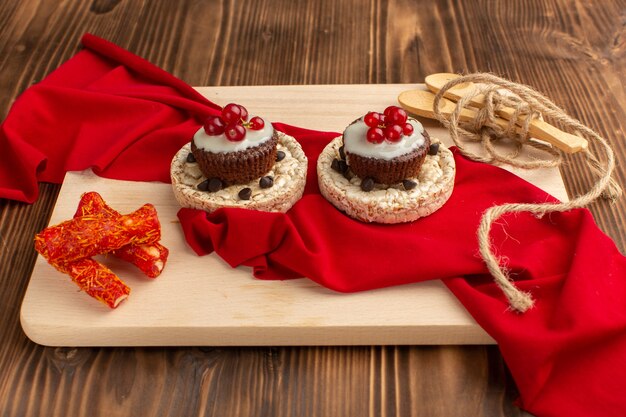
[[[210,100],[244,104],[266,120],[341,132],[369,110],[396,104],[409,84],[199,87]],[[420,86],[423,88],[423,86]],[[436,122],[431,136],[449,144]],[[557,169],[516,172],[567,200]],[[80,195],[97,191],[115,209],[145,202],[158,210],[162,243],[170,249],[163,274],[150,280],[112,258],[109,265],[132,289],[116,310],[91,299],[39,256],[24,297],[22,327],[48,346],[387,345],[492,344],[439,281],[339,294],[307,279],[262,281],[249,268],[230,268],[217,255],[196,256],[186,245],[169,184],[68,173],[50,224],[69,219]],[[474,236],[467,236],[474,239]]]

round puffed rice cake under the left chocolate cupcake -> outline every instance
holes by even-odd
[[[273,185],[261,188],[260,178],[245,184],[227,186],[219,191],[201,191],[198,185],[207,180],[197,162],[187,162],[191,143],[183,146],[174,156],[170,169],[174,196],[182,207],[215,211],[222,207],[238,207],[251,210],[284,213],[301,197],[306,184],[307,158],[295,138],[277,132],[277,151],[285,154],[264,175],[272,177]],[[250,188],[250,198],[243,200],[239,192]]]

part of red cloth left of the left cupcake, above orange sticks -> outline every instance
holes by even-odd
[[[32,203],[37,181],[93,167],[169,182],[174,154],[220,107],[148,61],[86,34],[84,49],[27,89],[0,127],[0,198]]]

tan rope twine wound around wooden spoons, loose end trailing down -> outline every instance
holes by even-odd
[[[457,102],[449,119],[445,118],[439,108],[442,97],[447,90],[469,82],[479,85],[474,91],[466,94]],[[477,111],[476,117],[471,122],[460,123],[461,111],[468,106],[472,98],[480,94],[485,97],[485,106]],[[505,128],[496,123],[497,112],[503,107],[510,107],[515,110]],[[600,159],[592,153],[592,146],[584,151],[585,162],[597,176],[597,181],[586,193],[569,202],[503,204],[491,207],[483,213],[477,232],[480,255],[496,284],[509,301],[510,308],[523,313],[533,307],[534,300],[528,292],[521,291],[515,286],[509,276],[509,271],[503,266],[503,259],[496,255],[493,242],[489,237],[493,224],[500,217],[509,213],[528,212],[541,218],[546,213],[563,212],[586,206],[600,197],[615,201],[621,196],[622,189],[612,178],[615,168],[613,150],[599,134],[568,116],[565,111],[541,93],[528,86],[492,74],[469,74],[449,81],[435,96],[433,110],[438,120],[450,131],[450,137],[461,154],[476,161],[496,165],[509,164],[525,169],[560,165],[563,162],[563,155],[560,150],[533,140],[528,134],[533,118],[543,116],[558,122],[565,131],[586,138],[590,145],[597,144],[601,151]],[[519,126],[517,126],[518,121],[521,121]],[[469,151],[464,147],[463,141],[479,143],[483,152],[477,154]],[[508,143],[509,150],[507,152],[498,149],[501,147],[499,145],[504,143]],[[510,151],[511,143],[514,145],[513,151]],[[545,157],[543,159],[517,159],[525,147],[538,149]]]

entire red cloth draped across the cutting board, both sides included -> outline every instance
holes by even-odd
[[[171,157],[219,109],[113,44],[91,35],[83,44],[16,101],[0,128],[0,197],[33,201],[38,180],[60,182],[90,166],[110,178],[168,181]],[[252,266],[259,278],[306,276],[338,291],[443,279],[498,341],[523,408],[540,417],[626,414],[626,262],[588,211],[508,216],[495,228],[498,253],[536,300],[513,313],[478,256],[476,226],[493,204],[550,196],[456,155],[455,190],[438,212],[405,225],[363,224],[319,194],[315,160],[336,134],[275,126],[309,157],[305,196],[287,214],[182,209],[194,250]]]

